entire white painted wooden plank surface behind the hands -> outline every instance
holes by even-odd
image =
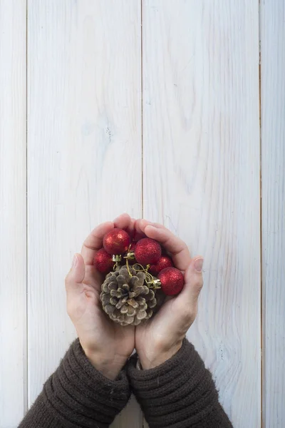
[[[0,428],[75,337],[73,253],[142,202],[204,255],[189,337],[234,428],[261,428],[261,404],[262,427],[284,427],[284,2],[27,3],[0,0]],[[134,400],[113,424],[142,426]]]

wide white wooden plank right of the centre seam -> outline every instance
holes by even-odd
[[[260,427],[259,4],[142,6],[144,216],[204,255],[189,337],[234,427]]]

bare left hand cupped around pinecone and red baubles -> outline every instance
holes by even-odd
[[[135,220],[123,214],[113,222],[99,225],[83,244],[80,254],[66,277],[67,311],[83,351],[105,377],[115,379],[135,347],[133,326],[121,327],[103,312],[100,303],[101,275],[93,266],[96,251],[102,248],[103,236],[113,228],[133,234]]]

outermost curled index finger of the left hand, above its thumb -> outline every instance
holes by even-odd
[[[93,265],[96,251],[103,245],[103,236],[114,228],[114,223],[108,221],[97,226],[83,243],[81,255],[86,265]]]

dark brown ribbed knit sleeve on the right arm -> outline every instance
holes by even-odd
[[[150,370],[132,357],[128,377],[150,428],[232,428],[204,362],[186,339],[177,354]]]

